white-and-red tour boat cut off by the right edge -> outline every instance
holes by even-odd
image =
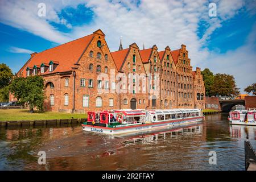
[[[229,112],[230,125],[252,125],[256,126],[256,109],[245,109],[244,106],[235,107]]]

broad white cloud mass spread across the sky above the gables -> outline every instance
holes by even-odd
[[[45,0],[47,6],[45,18],[37,16],[39,2],[41,1],[0,1],[0,22],[31,32],[55,43],[64,43],[80,38],[101,28],[106,34],[106,40],[111,51],[117,50],[121,36],[123,47],[128,47],[131,43],[136,42],[141,48],[143,43],[146,48],[156,44],[159,50],[163,50],[167,45],[171,49],[177,49],[180,48],[181,44],[185,44],[194,68],[195,66],[203,66],[213,69],[214,72],[230,74],[232,72],[241,88],[243,86],[240,81],[241,75],[248,81],[252,80],[251,77],[244,74],[247,72],[246,68],[249,67],[249,63],[254,63],[253,57],[255,56],[253,51],[247,49],[248,43],[235,51],[227,52],[225,55],[210,52],[208,48],[202,48],[207,47],[212,33],[243,7],[246,6],[251,14],[255,12],[251,8],[252,6],[248,5],[249,3],[244,1],[213,1],[217,3],[216,18],[208,16],[209,1],[207,0],[142,0],[139,6],[137,6],[136,0],[122,1],[121,3],[119,0],[63,0],[61,3]],[[92,23],[85,26],[72,26],[67,20],[58,16],[58,13],[65,7],[75,8],[80,3],[86,3],[86,7],[93,10]],[[203,36],[199,38],[197,31],[202,20],[204,20],[207,28]],[[49,22],[64,24],[68,28],[72,28],[72,32],[64,34],[57,31]],[[247,62],[239,65],[245,55],[248,55]],[[233,72],[229,68],[223,69],[224,67],[220,66],[222,64],[217,65],[216,63],[229,65],[232,70],[236,71]],[[241,66],[244,69],[239,69]]]

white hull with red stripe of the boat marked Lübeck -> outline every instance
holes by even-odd
[[[165,121],[165,122],[146,123],[146,124],[122,126],[122,127],[115,127],[115,128],[93,126],[93,125],[82,125],[82,130],[90,131],[94,133],[117,135],[117,134],[133,133],[133,132],[144,131],[144,130],[160,129],[160,128],[176,126],[176,125],[184,125],[187,123],[202,121],[203,118],[204,117],[186,118],[184,120],[177,119],[176,121],[172,120],[172,121]]]

